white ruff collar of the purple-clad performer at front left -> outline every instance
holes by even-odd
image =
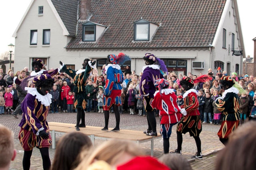
[[[39,102],[41,102],[41,104],[43,104],[44,106],[50,106],[50,104],[52,103],[52,95],[50,93],[47,93],[46,95],[43,96],[40,93],[38,93],[36,88],[25,87],[25,90],[27,90],[28,93],[31,94],[32,96],[36,96],[36,99]]]

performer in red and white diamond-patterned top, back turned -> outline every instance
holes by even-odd
[[[164,154],[169,153],[170,136],[172,126],[177,124],[181,119],[180,107],[177,104],[177,96],[173,89],[168,89],[169,82],[164,78],[158,79],[155,86],[159,89],[154,94],[152,107],[159,110],[161,118],[160,133],[164,140]]]

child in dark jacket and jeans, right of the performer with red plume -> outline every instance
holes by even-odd
[[[208,115],[210,124],[212,124],[212,111],[213,111],[212,103],[213,103],[213,100],[211,98],[210,92],[206,92],[204,97],[204,122],[203,123],[207,123],[207,115]]]

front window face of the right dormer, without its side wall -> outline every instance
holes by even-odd
[[[134,41],[149,41],[150,22],[140,19],[134,22]]]

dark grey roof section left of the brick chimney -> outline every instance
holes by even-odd
[[[76,16],[78,0],[52,0],[70,36],[76,36]]]

